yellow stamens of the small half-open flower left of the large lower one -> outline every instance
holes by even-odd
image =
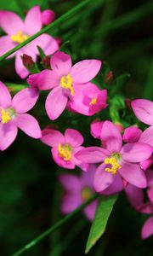
[[[69,144],[61,145],[59,143],[58,145],[59,157],[62,157],[63,160],[65,161],[71,160],[71,151],[72,151],[72,148]]]

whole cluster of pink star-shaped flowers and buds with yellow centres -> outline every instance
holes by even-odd
[[[0,55],[23,43],[53,20],[54,12],[41,11],[39,6],[28,11],[25,21],[12,12],[0,11],[0,26],[7,33],[0,38]],[[124,190],[134,209],[153,214],[153,102],[137,99],[130,104],[135,116],[150,125],[143,131],[139,125],[123,127],[111,120],[95,119],[90,124],[90,132],[96,146],[82,146],[84,138],[76,129],[67,127],[62,134],[54,126],[47,126],[41,131],[37,119],[27,112],[35,106],[42,90],[49,90],[45,109],[50,120],[58,119],[65,108],[74,115],[100,113],[102,116],[101,111],[108,107],[108,103],[107,90],[101,90],[93,82],[102,61],[82,60],[72,65],[71,55],[60,51],[58,40],[48,34],[42,34],[15,52],[15,70],[20,78],[25,79],[29,74],[21,57],[30,55],[36,62],[37,45],[47,55],[50,67],[30,74],[29,87],[20,90],[13,99],[7,86],[0,82],[0,150],[14,142],[20,128],[28,136],[47,144],[58,166],[70,170],[79,167],[81,176],[74,173],[59,176],[59,183],[65,189],[61,206],[64,213],[73,211],[94,192],[113,195]],[[144,201],[145,189],[148,202]],[[94,218],[96,206],[97,201],[84,210],[90,220]],[[143,238],[150,235],[153,235],[151,216],[142,229]]]

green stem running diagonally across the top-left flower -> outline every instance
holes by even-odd
[[[78,3],[77,6],[75,6],[74,8],[70,9],[68,12],[66,12],[64,15],[61,15],[59,17],[59,19],[54,20],[53,23],[49,24],[48,26],[45,26],[42,28],[42,30],[40,30],[39,32],[37,32],[36,34],[32,35],[30,38],[28,38],[26,41],[24,41],[21,44],[18,44],[16,47],[14,47],[13,49],[8,50],[8,52],[4,55],[2,55],[0,57],[0,61],[3,61],[4,59],[6,59],[9,55],[12,55],[15,51],[17,51],[18,49],[24,47],[26,44],[29,44],[32,40],[34,40],[35,38],[39,37],[40,35],[42,35],[42,33],[47,32],[50,28],[53,28],[54,26],[58,26],[60,22],[63,22],[64,20],[68,19],[71,15],[74,15],[75,13],[77,13],[77,11],[79,9],[82,9],[83,6],[85,6],[87,3],[91,2],[91,0],[84,0],[81,3]]]

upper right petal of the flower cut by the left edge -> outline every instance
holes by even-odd
[[[12,107],[17,113],[26,113],[35,106],[38,96],[38,91],[32,88],[20,90],[12,100]]]

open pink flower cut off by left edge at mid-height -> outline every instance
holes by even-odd
[[[42,137],[37,120],[26,113],[33,108],[37,98],[37,90],[26,88],[11,99],[8,88],[0,82],[0,150],[14,142],[18,128],[30,137]]]

